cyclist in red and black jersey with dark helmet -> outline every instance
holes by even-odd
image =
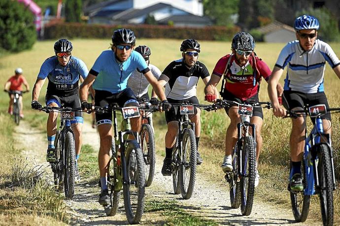
[[[268,65],[258,58],[254,52],[254,38],[247,32],[238,32],[232,40],[232,53],[222,57],[213,69],[211,79],[204,89],[205,99],[215,102],[218,93],[214,89],[221,77],[224,76],[225,86],[222,87],[221,96],[226,100],[233,100],[239,103],[250,103],[259,101],[259,89],[261,78],[266,81],[272,71]],[[283,89],[278,84],[278,92]],[[232,153],[237,142],[237,125],[240,122],[237,107],[226,108],[230,118],[225,138],[225,156],[221,165],[223,172],[233,170]],[[261,128],[263,124],[263,113],[260,107],[253,108],[253,117],[250,123],[256,125],[256,176],[255,187],[259,183],[260,175],[257,170],[257,162],[261,152],[262,137]]]

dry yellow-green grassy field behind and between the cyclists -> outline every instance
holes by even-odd
[[[98,55],[105,49],[109,48],[110,39],[107,40],[86,40],[74,39],[72,54],[82,59],[90,69],[95,62]],[[138,39],[137,45],[148,45],[152,50],[150,57],[151,64],[158,66],[161,71],[173,60],[181,57],[179,46],[181,40],[169,39]],[[0,59],[0,84],[4,84],[9,76],[14,74],[16,67],[22,67],[24,75],[28,79],[31,86],[34,84],[36,75],[43,61],[52,56],[54,40],[37,42],[32,50],[24,51],[18,54],[5,55]],[[202,41],[202,51],[199,61],[203,62],[209,72],[212,71],[214,65],[219,58],[230,52],[230,42],[206,42]],[[270,68],[275,64],[279,51],[284,46],[284,43],[257,43],[256,53],[261,57]],[[332,48],[338,56],[340,56],[340,43],[331,43]],[[283,84],[283,78],[281,84]],[[47,82],[45,83],[42,93],[40,94],[39,101],[44,102],[44,94]],[[204,103],[204,86],[202,81],[198,85],[198,97]],[[327,65],[325,75],[325,90],[329,99],[330,106],[339,107],[338,91],[340,89],[340,82],[337,76],[333,73],[332,69]],[[8,95],[0,93],[0,120],[1,126],[9,124],[6,128],[6,138],[1,137],[2,141],[5,140],[6,145],[1,146],[0,155],[4,156],[3,166],[0,170],[1,174],[6,174],[10,168],[10,162],[6,161],[11,159],[12,147],[10,147],[11,131],[13,124],[8,122],[9,117],[6,115]],[[262,82],[260,91],[261,100],[269,100],[267,94],[267,84]],[[45,114],[38,114],[30,109],[31,97],[30,94],[24,96],[24,107],[26,120],[33,126],[44,128]],[[206,103],[206,102],[205,102]],[[288,165],[289,165],[289,133],[290,133],[290,120],[289,119],[276,119],[272,116],[270,110],[264,110],[264,126],[262,135],[264,137],[264,144],[262,154],[260,156],[259,171],[261,175],[260,185],[256,190],[256,198],[258,200],[266,200],[271,203],[277,203],[284,207],[290,205],[289,193],[287,191],[288,183]],[[333,115],[333,148],[335,156],[335,167],[337,180],[340,180],[340,118],[338,115]],[[156,129],[165,129],[165,121],[163,115],[157,115],[155,125],[160,125]],[[225,130],[229,124],[228,117],[224,111],[218,112],[203,112],[202,115],[202,139],[200,142],[200,152],[204,157],[204,164],[199,167],[200,172],[206,174],[207,180],[214,180],[220,186],[226,186],[223,179],[222,171],[219,165],[221,164],[224,153],[224,135]],[[310,128],[310,127],[309,127]],[[164,155],[164,137],[156,137],[158,145],[158,153]],[[16,153],[19,153],[17,151]],[[7,170],[7,171],[6,171]],[[92,174],[92,172],[88,172]],[[216,175],[219,175],[216,177]],[[1,189],[1,188],[0,188]],[[335,217],[338,223],[340,222],[340,193],[337,190],[334,194],[335,203]],[[320,208],[318,200],[312,200],[312,206],[309,217],[320,218]]]

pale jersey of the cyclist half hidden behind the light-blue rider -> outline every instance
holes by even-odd
[[[148,67],[157,79],[159,76],[161,76],[162,72],[160,69],[158,69],[158,67],[151,64],[149,64]],[[149,85],[149,81],[146,79],[143,73],[138,72],[138,70],[135,70],[128,80],[128,86],[132,89],[132,91],[134,91],[137,98],[147,94]]]

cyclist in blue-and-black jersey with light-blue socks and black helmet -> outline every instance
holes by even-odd
[[[78,82],[86,78],[89,70],[85,63],[72,56],[72,43],[68,39],[62,38],[54,44],[55,56],[47,58],[41,65],[39,74],[34,84],[32,92],[32,108],[39,109],[42,105],[38,102],[38,97],[42,86],[48,79],[46,92],[46,106],[78,108],[80,107]],[[57,131],[58,112],[51,111],[47,119],[47,140],[48,149],[46,161],[55,162],[54,140]],[[78,171],[78,159],[82,144],[83,117],[81,111],[74,113],[75,120],[71,122],[75,140],[76,168],[75,180],[80,181]]]

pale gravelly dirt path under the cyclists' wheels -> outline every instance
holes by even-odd
[[[52,175],[48,163],[45,162],[46,134],[31,128],[28,123],[23,121],[20,127],[16,128],[15,137],[17,147],[23,150],[23,155],[26,155],[29,160],[33,160],[34,164],[46,166],[46,174]],[[84,144],[90,144],[95,150],[98,150],[97,131],[92,129],[89,124],[84,125],[83,141]],[[258,201],[254,202],[250,216],[242,216],[240,209],[230,208],[229,190],[206,182],[203,175],[200,174],[196,179],[193,196],[189,200],[183,200],[181,195],[172,194],[172,177],[164,177],[161,174],[162,162],[162,159],[157,160],[153,184],[146,189],[147,196],[175,199],[187,212],[214,220],[220,225],[288,225],[295,223],[290,209],[281,209]],[[123,208],[120,208],[119,213],[114,217],[105,216],[102,206],[97,202],[98,193],[97,185],[89,185],[86,180],[82,180],[76,185],[73,200],[65,200],[66,205],[73,210],[70,211],[72,225],[127,225]],[[123,200],[120,201],[120,204],[123,205]],[[151,225],[156,222],[162,224],[163,220],[164,216],[145,213],[141,224]]]

